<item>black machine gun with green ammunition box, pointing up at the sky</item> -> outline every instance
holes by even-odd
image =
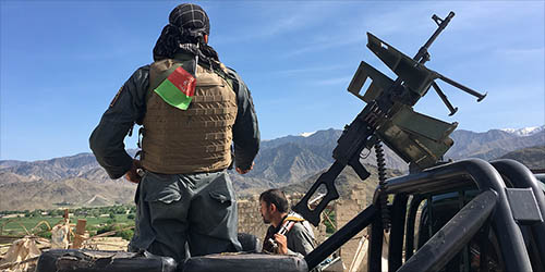
[[[379,186],[384,186],[386,173],[380,141],[410,163],[411,171],[436,165],[452,146],[453,141],[448,136],[458,123],[449,124],[426,116],[413,111],[412,107],[426,95],[429,87],[433,87],[449,109],[450,115],[455,114],[458,109],[452,107],[435,79],[441,79],[477,97],[477,101],[486,96],[424,66],[424,63],[429,60],[427,49],[453,16],[453,12],[450,12],[445,20],[435,14],[432,16],[438,28],[412,59],[367,33],[367,48],[390,67],[398,78],[392,81],[366,62],[361,62],[348,90],[367,104],[355,120],[344,127],[334,150],[334,164],[318,177],[301,201],[293,207],[295,212],[317,226],[322,211],[331,200],[339,198],[335,180],[347,164],[352,166],[362,181],[370,176],[360,162],[363,149],[371,150],[375,147]],[[360,90],[367,79],[371,79],[371,84],[365,95],[362,96]],[[322,185],[327,188],[327,194],[316,208],[311,210],[308,199]],[[389,215],[385,194],[380,196],[380,209],[383,210],[383,225],[388,227]]]

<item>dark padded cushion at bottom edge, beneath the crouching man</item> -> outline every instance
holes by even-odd
[[[192,257],[185,261],[183,272],[303,272],[306,262],[295,256],[268,254],[218,254]]]

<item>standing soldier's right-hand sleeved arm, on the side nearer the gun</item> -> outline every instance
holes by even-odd
[[[259,150],[257,115],[250,90],[242,78],[230,69],[228,69],[228,74],[234,79],[233,88],[238,106],[237,120],[233,125],[234,164],[244,171],[252,166]]]

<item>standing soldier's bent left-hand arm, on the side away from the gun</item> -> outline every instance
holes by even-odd
[[[142,124],[149,66],[143,66],[125,82],[93,131],[89,146],[98,163],[111,178],[123,176],[133,160],[125,151],[123,140],[134,123]]]

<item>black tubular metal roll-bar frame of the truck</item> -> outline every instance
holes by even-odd
[[[545,212],[545,209],[542,208],[545,207],[545,200],[537,181],[522,164],[512,161],[502,160],[491,164],[481,159],[461,160],[431,168],[420,173],[388,180],[385,194],[396,196],[390,207],[393,221],[389,245],[389,271],[415,271],[414,269],[435,271],[440,269],[468,244],[479,230],[489,226],[498,238],[501,259],[508,260],[504,262],[505,270],[532,271],[524,244],[524,236],[528,235],[523,236],[521,227],[513,220],[502,176],[509,180],[509,183],[513,183],[516,187],[531,187],[536,195],[541,212]],[[425,196],[467,188],[479,189],[479,196],[465,205],[453,219],[413,254],[414,214]],[[382,271],[383,225],[379,217],[378,194],[378,190],[375,191],[373,205],[305,258],[310,269],[316,267],[328,255],[371,224],[368,271]],[[407,215],[407,203],[410,195],[413,198],[409,215]],[[408,233],[411,234],[404,237],[407,261],[403,263],[402,246],[405,225]],[[543,240],[545,232],[541,231],[544,226],[544,222],[538,222],[530,227],[530,233],[535,238],[534,252],[537,252],[538,256],[543,256],[545,247]],[[460,230],[465,231],[460,232]],[[432,251],[433,255],[429,254]],[[481,268],[486,267],[484,262],[481,262]],[[533,267],[535,268],[535,264]],[[542,270],[536,269],[536,271]]]

